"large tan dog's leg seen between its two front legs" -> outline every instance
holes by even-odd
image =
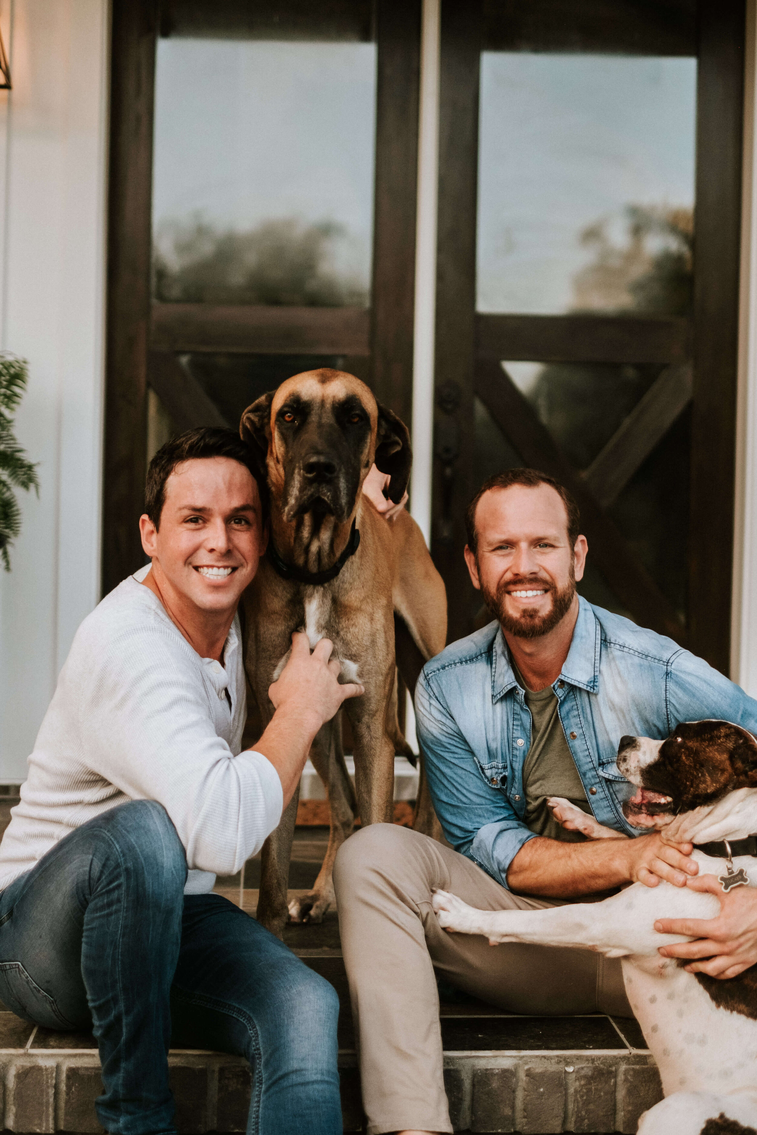
[[[355,792],[344,763],[342,714],[320,730],[310,750],[316,772],[323,781],[329,801],[329,841],[326,857],[312,891],[289,903],[292,922],[321,922],[334,902],[331,872],[336,854],[352,832],[355,822]]]

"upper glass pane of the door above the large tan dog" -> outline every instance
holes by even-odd
[[[370,302],[376,44],[158,41],[155,300]]]

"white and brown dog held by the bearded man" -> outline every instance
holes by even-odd
[[[661,832],[666,842],[693,843],[700,874],[718,876],[724,891],[757,884],[757,741],[751,733],[729,722],[700,721],[679,725],[665,741],[624,737],[617,767],[638,788],[624,805],[632,824]],[[619,838],[566,800],[555,798],[550,806],[564,826],[590,839]],[[628,998],[666,1096],[644,1113],[639,1135],[755,1132],[757,966],[718,981],[687,973],[657,952],[688,941],[657,933],[657,918],[713,918],[715,896],[665,882],[653,889],[634,883],[603,902],[483,911],[437,891],[434,908],[441,926],[483,934],[493,945],[583,947],[623,959]]]

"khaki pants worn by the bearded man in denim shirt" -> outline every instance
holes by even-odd
[[[511,1012],[632,1016],[617,960],[443,931],[432,888],[483,910],[560,903],[512,894],[426,835],[393,824],[356,832],[339,850],[334,882],[369,1135],[452,1132],[435,970]]]

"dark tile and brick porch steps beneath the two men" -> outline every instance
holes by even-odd
[[[9,806],[0,801],[0,831]],[[7,822],[7,821],[6,821]],[[326,849],[326,829],[297,829],[289,883],[308,890]],[[217,891],[254,915],[260,864],[219,878]],[[339,994],[339,1067],[345,1132],[363,1129],[360,1078],[338,922],[288,926],[285,940]],[[100,1066],[90,1035],[35,1028],[0,1004],[0,1129],[26,1133],[101,1128],[94,1099]],[[456,1132],[632,1133],[659,1099],[659,1078],[636,1022],[603,1015],[521,1017],[440,989],[445,1084]],[[171,1051],[179,1133],[243,1132],[250,1074],[222,1053]]]

